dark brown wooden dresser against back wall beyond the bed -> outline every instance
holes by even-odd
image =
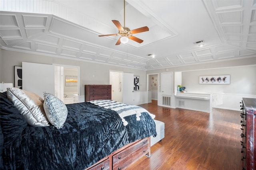
[[[112,99],[111,85],[84,85],[85,102],[91,100]]]

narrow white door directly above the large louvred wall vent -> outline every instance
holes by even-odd
[[[172,95],[172,72],[162,72],[161,77],[162,95]]]

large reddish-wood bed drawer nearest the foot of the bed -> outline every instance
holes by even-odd
[[[112,156],[113,170],[122,170],[148,153],[148,139],[142,139]],[[134,159],[133,157],[136,157]]]

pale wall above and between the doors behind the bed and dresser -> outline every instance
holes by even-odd
[[[121,72],[130,72],[136,76],[140,76],[140,96],[143,96],[143,100],[140,100],[140,104],[142,104],[141,101],[144,103],[147,101],[144,97],[146,94],[146,71],[144,70],[34,55],[4,49],[1,49],[0,56],[0,82],[4,81],[6,83],[14,83],[14,66],[22,66],[22,61],[41,64],[80,66],[80,94],[83,96],[84,84],[109,84],[109,70],[116,70]],[[140,99],[141,98],[142,97],[140,97]]]

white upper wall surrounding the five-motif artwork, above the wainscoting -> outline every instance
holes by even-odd
[[[199,84],[199,76],[230,75],[230,84]],[[188,92],[256,94],[256,65],[182,72]]]

